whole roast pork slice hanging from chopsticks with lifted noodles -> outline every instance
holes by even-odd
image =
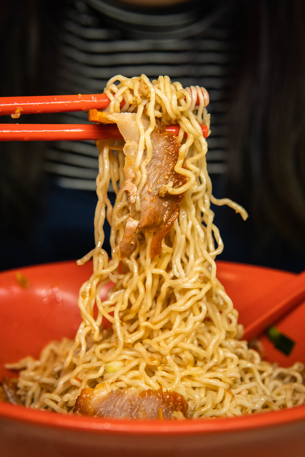
[[[129,211],[135,202],[137,188],[134,184],[134,160],[139,146],[139,130],[135,121],[135,113],[108,113],[91,110],[89,112],[91,122],[116,123],[125,140],[123,190],[126,192]],[[144,129],[147,129],[150,121],[142,116]],[[141,210],[139,221],[126,223],[123,239],[120,244],[121,258],[129,257],[137,247],[137,231],[146,230],[153,233],[150,245],[150,257],[161,253],[161,243],[164,236],[170,231],[179,213],[179,205],[184,194],[171,195],[166,191],[166,184],[173,181],[173,188],[180,187],[186,182],[186,177],[177,173],[174,169],[179,156],[179,143],[166,127],[156,120],[156,125],[150,134],[152,144],[152,158],[146,166],[147,180],[140,198]],[[146,150],[143,159],[146,156]],[[138,226],[136,227],[136,222]],[[134,231],[133,231],[134,230]],[[130,245],[128,246],[128,242]]]

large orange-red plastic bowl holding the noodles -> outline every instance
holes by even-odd
[[[26,276],[28,288],[17,282],[19,271]],[[78,267],[75,262],[63,262],[0,273],[0,377],[11,376],[5,363],[29,354],[37,357],[50,340],[74,338],[80,323],[78,289],[91,271],[90,263]],[[292,276],[218,262],[218,277],[241,316],[244,306]],[[305,316],[304,308],[297,309],[303,309]],[[301,346],[304,354],[302,341]],[[268,347],[269,360],[281,361],[281,357],[272,345]],[[293,357],[294,353],[284,359],[287,366]],[[304,457],[305,405],[234,419],[180,422],[66,416],[2,403],[0,436],[1,457]]]

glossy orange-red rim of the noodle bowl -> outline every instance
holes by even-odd
[[[50,262],[41,265],[31,265],[14,268],[0,272],[0,276],[14,271],[24,271],[39,267],[48,267],[62,264],[73,264],[73,260]],[[249,269],[272,270],[264,266],[247,265],[239,262],[227,262],[219,260],[218,263],[245,266]],[[291,273],[293,275],[293,273]],[[112,433],[125,435],[208,435],[219,433],[242,432],[260,428],[271,428],[305,421],[305,404],[280,411],[268,411],[266,413],[251,414],[233,418],[218,418],[217,420],[194,419],[194,420],[114,420],[88,416],[76,416],[73,414],[56,414],[51,411],[27,408],[21,405],[0,402],[0,419],[13,420],[30,425],[56,428],[61,430],[74,430],[90,433]]]

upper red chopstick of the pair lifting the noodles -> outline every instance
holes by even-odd
[[[0,116],[104,110],[110,100],[105,94],[78,94],[35,97],[0,97]],[[196,104],[199,105],[199,98]],[[121,107],[124,101],[121,102]]]

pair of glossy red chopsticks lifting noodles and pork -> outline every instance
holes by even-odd
[[[56,113],[68,111],[104,110],[110,100],[105,94],[64,95],[39,97],[2,97],[0,116],[21,114]],[[199,104],[199,101],[197,100]],[[122,105],[122,104],[121,104]],[[179,133],[179,125],[166,126],[166,130]],[[201,125],[207,138],[208,127]],[[0,141],[55,141],[55,140],[103,140],[122,138],[116,124],[0,124]]]

